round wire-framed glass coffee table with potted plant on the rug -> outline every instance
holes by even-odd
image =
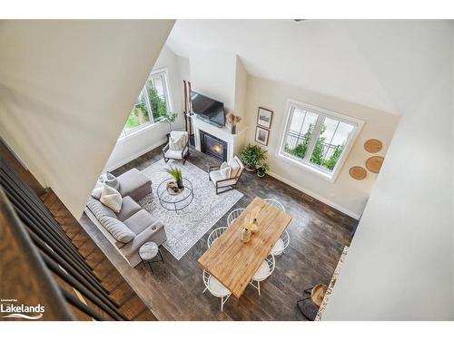
[[[189,206],[194,198],[194,193],[192,189],[192,182],[186,178],[183,178],[183,189],[180,189],[179,192],[174,193],[171,190],[167,189],[167,183],[173,181],[173,178],[170,177],[166,180],[163,180],[158,186],[158,199],[163,209],[173,210],[178,212]]]

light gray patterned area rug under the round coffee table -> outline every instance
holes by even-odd
[[[191,180],[194,194],[191,204],[178,212],[164,209],[157,197],[159,184],[170,177],[165,170],[171,165],[180,168],[183,177]],[[163,247],[177,260],[242,198],[242,193],[235,189],[216,195],[208,173],[189,161],[183,165],[181,161],[165,163],[159,160],[142,172],[152,180],[153,193],[141,199],[139,204],[163,222],[167,234]]]

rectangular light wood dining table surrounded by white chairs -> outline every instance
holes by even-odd
[[[258,229],[243,243],[240,234],[252,214],[257,215]],[[233,296],[240,297],[290,222],[289,214],[256,197],[198,262]]]

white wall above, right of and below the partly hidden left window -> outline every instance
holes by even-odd
[[[183,77],[180,75],[180,63],[179,57],[170,48],[164,46],[153,66],[153,70],[166,68],[169,74],[171,109],[179,113],[177,121],[172,124],[174,130],[184,129]],[[122,138],[116,143],[104,170],[114,170],[143,153],[153,150],[166,141],[167,133],[169,133],[169,124],[159,122]]]

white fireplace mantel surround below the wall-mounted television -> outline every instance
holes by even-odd
[[[232,134],[230,129],[226,127],[217,127],[206,121],[202,121],[196,114],[192,116],[192,126],[194,129],[195,150],[202,151],[200,131],[204,131],[227,143],[227,160],[231,160],[233,155],[240,151],[245,131],[247,130],[247,127],[242,127],[242,129],[237,130],[235,134]]]

